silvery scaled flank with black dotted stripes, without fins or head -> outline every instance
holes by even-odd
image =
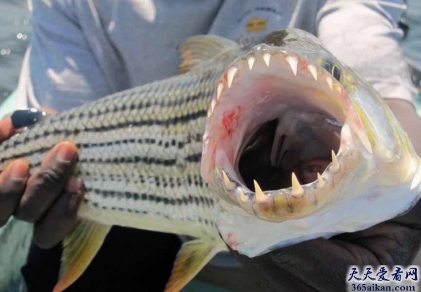
[[[52,146],[68,140],[80,149],[76,174],[85,184],[88,209],[200,220],[211,226],[214,204],[199,170],[201,136],[221,73],[186,73],[51,116],[4,142],[1,163],[24,156],[35,171]],[[103,223],[147,228],[120,222],[118,214],[105,217]],[[195,230],[180,231],[198,236]],[[213,226],[209,233],[217,235]]]

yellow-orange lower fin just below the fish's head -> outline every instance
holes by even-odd
[[[221,250],[202,239],[184,242],[164,292],[178,292]]]

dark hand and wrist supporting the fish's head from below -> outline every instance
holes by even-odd
[[[387,104],[421,155],[421,118],[408,102],[390,99]],[[332,292],[345,291],[349,265],[408,265],[420,246],[421,200],[403,216],[366,230],[308,240],[254,258],[233,254],[265,291]]]

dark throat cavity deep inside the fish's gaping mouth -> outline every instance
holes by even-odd
[[[339,123],[324,113],[301,113],[306,121],[292,115],[263,122],[243,140],[236,169],[248,188],[254,189],[253,180],[262,190],[290,187],[292,172],[301,184],[311,183],[332,162],[331,150],[340,145]]]

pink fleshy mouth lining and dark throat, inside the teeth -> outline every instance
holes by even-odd
[[[218,125],[209,137],[216,143],[216,167],[250,190],[254,180],[263,191],[290,187],[292,172],[301,184],[315,181],[332,162],[331,151],[340,148],[346,117],[339,103],[332,102],[338,97],[328,96],[338,93],[314,80],[307,85],[300,76],[255,78],[240,72],[215,107]]]

